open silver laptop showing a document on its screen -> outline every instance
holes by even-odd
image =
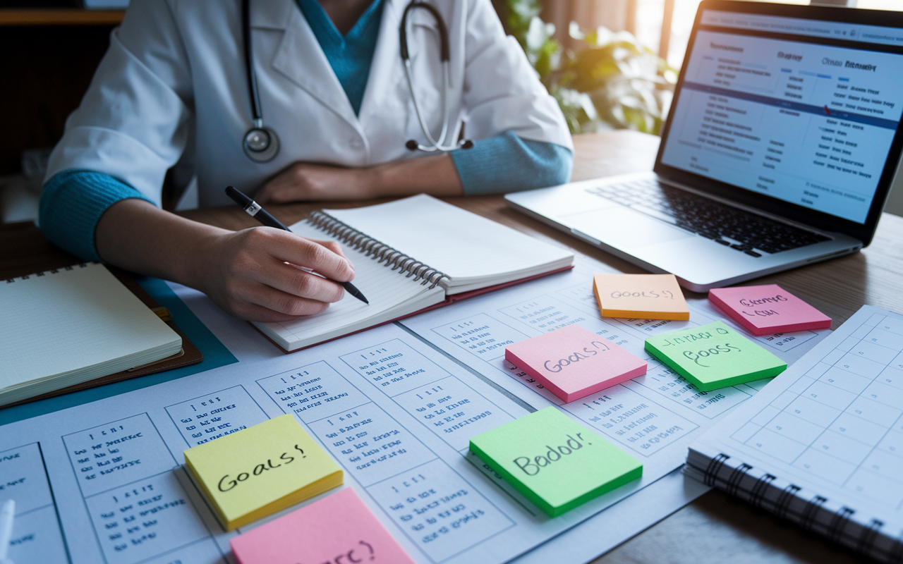
[[[512,208],[708,291],[869,245],[898,171],[903,14],[703,0],[653,171]]]

